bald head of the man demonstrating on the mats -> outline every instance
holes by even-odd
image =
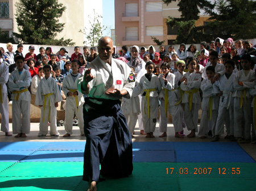
[[[108,36],[104,36],[98,40],[98,56],[105,63],[111,64],[113,50],[113,40]]]

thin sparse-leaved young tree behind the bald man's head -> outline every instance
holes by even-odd
[[[90,16],[88,15],[90,28],[85,27],[82,30],[80,29],[79,32],[82,32],[82,34],[85,35],[85,38],[86,38],[86,40],[84,41],[85,45],[96,47],[98,45],[98,40],[100,40],[100,38],[103,35],[103,31],[105,31],[107,27],[101,26],[99,19],[102,18],[102,16],[97,15],[95,13],[95,10],[93,10],[93,12],[94,12],[93,21],[91,21]]]

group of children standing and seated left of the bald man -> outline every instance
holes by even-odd
[[[18,45],[20,47],[20,45]],[[10,48],[12,47],[12,48]],[[7,49],[12,51],[13,45],[8,43]],[[75,54],[76,54],[75,47]],[[88,48],[87,48],[88,51]],[[38,136],[46,136],[48,134],[48,124],[50,124],[49,134],[52,136],[59,136],[57,131],[56,107],[59,102],[65,97],[65,131],[64,137],[72,135],[73,117],[76,115],[81,136],[84,136],[84,120],[82,117],[82,105],[84,97],[77,91],[77,80],[81,77],[79,68],[81,62],[78,59],[69,61],[69,57],[60,57],[65,61],[65,68],[60,69],[59,64],[56,63],[56,55],[51,54],[51,59],[48,63],[43,62],[44,58],[48,60],[47,56],[43,56],[44,48],[40,48],[40,55],[38,55],[40,67],[35,67],[36,57],[32,55],[34,46],[30,46],[31,56],[14,55],[14,64],[16,67],[10,71],[10,65],[4,61],[2,52],[0,53],[0,113],[2,114],[1,131],[5,132],[6,136],[11,136],[9,132],[9,111],[7,92],[11,92],[12,104],[12,120],[13,133],[17,134],[15,138],[26,137],[30,133],[30,103],[31,97],[35,97],[35,105],[42,107],[40,126]],[[65,48],[60,49],[60,55],[67,53]],[[76,54],[77,55],[77,54]],[[87,56],[89,56],[87,54]],[[3,59],[2,59],[3,58]],[[8,59],[9,61],[11,59]],[[12,62],[9,62],[12,63]],[[28,66],[28,68],[26,67]],[[86,61],[82,65],[86,67]],[[63,75],[61,75],[63,73]],[[32,78],[32,80],[31,80]],[[6,85],[5,85],[6,84]],[[61,96],[61,93],[63,94]]]

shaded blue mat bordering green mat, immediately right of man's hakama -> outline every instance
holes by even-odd
[[[134,151],[134,162],[175,162],[174,151]]]

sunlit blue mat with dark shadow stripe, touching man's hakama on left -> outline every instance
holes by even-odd
[[[84,151],[38,151],[22,162],[82,162]]]

